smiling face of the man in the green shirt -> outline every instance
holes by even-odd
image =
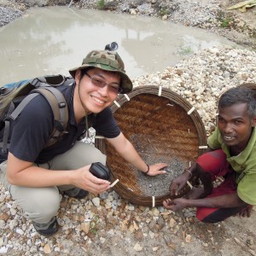
[[[218,109],[218,130],[224,143],[241,152],[246,148],[256,120],[247,114],[247,103],[237,103]]]

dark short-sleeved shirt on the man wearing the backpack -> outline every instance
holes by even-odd
[[[68,133],[60,141],[49,148],[44,148],[54,128],[54,116],[49,103],[44,96],[38,95],[22,110],[19,118],[11,123],[11,140],[9,152],[20,160],[47,162],[57,154],[65,153],[72,148],[74,143],[84,134],[85,118],[76,124],[73,113],[74,84],[60,86],[68,104]],[[110,108],[105,108],[101,113],[90,113],[87,116],[89,123],[96,129],[97,134],[104,137],[118,137],[120,130]]]

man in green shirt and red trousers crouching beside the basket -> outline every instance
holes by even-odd
[[[231,88],[218,102],[218,127],[208,138],[208,153],[176,177],[170,186],[175,195],[190,176],[198,176],[202,188],[192,189],[188,198],[164,201],[172,211],[197,207],[196,217],[216,223],[239,213],[250,216],[256,204],[256,96],[245,87]],[[213,188],[212,181],[224,177]]]

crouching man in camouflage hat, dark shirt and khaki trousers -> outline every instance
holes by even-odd
[[[132,90],[131,79],[117,52],[91,51],[80,67],[69,71],[73,84],[59,88],[68,104],[68,133],[58,143],[44,148],[54,128],[53,113],[44,96],[36,96],[11,124],[8,159],[1,168],[1,182],[20,205],[26,218],[44,236],[58,230],[59,189],[77,199],[90,191],[100,194],[109,182],[89,172],[91,163],[106,163],[97,148],[78,139],[92,123],[119,154],[150,176],[165,164],[148,166],[119,130],[109,106],[119,93]]]

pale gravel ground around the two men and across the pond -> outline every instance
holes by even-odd
[[[0,1],[0,6],[1,2],[7,1]],[[84,6],[96,3],[79,1],[80,5],[81,2]],[[128,2],[131,1],[126,4]],[[180,1],[161,1],[163,4],[171,2],[175,9]],[[203,9],[201,1],[180,2],[179,15],[173,11],[169,19],[190,26],[205,26],[208,20],[215,22],[212,14],[217,2],[212,1]],[[138,9],[141,13],[151,10],[147,3],[141,5]],[[121,7],[124,10],[125,3]],[[17,9],[6,8],[6,5],[4,9],[0,7],[0,26],[20,15]],[[256,83],[255,63],[255,51],[211,48],[133,82],[135,86],[154,84],[176,91],[201,114],[209,134],[215,124],[219,94],[244,82]],[[163,207],[137,207],[109,191],[99,197],[90,195],[87,201],[64,197],[58,216],[61,230],[45,238],[22,217],[9,192],[1,186],[0,191],[0,254],[256,255],[254,211],[249,219],[230,218],[220,224],[200,224],[195,219],[195,209],[174,213]]]

